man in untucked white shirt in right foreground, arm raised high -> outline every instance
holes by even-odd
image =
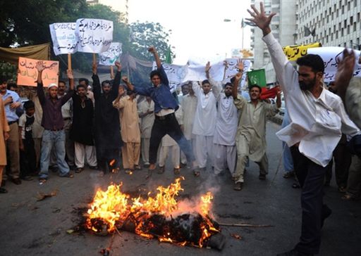
[[[262,2],[260,11],[254,5],[251,8],[248,12],[252,18],[247,20],[263,32],[290,115],[290,124],[277,135],[291,146],[295,173],[302,187],[300,241],[295,248],[280,255],[314,255],[319,253],[324,219],[331,214],[329,207],[322,203],[327,165],[341,134],[355,136],[360,134],[360,129],[345,113],[341,98],[324,89],[322,58],[307,54],[297,60],[298,70],[295,70],[271,33],[271,19],[276,14],[265,15]]]

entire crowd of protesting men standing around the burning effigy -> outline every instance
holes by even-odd
[[[338,189],[345,193],[343,199],[360,196],[361,82],[351,79],[355,55],[343,52],[336,81],[326,89],[322,58],[303,56],[295,70],[271,33],[274,13],[265,15],[262,3],[260,11],[252,6],[249,13],[249,20],[264,34],[286,98],[287,112],[277,132],[284,141],[283,177],[295,176],[302,188],[300,242],[280,255],[314,255],[319,252],[324,220],[331,215],[322,198],[323,186],[331,179],[333,158]],[[212,78],[212,66],[207,63],[207,79],[183,84],[182,94],[175,97],[157,50],[151,46],[148,51],[157,63],[149,87],[122,77],[121,63],[116,62],[114,79],[103,82],[93,63],[92,90],[87,79],[79,79],[74,88],[71,70],[67,72],[68,91],[63,81],[46,84],[44,89],[44,65],[39,61],[35,96],[22,104],[11,90],[16,84],[2,78],[0,192],[7,192],[4,186],[8,178],[21,184],[22,179],[29,181],[38,175],[44,183],[49,169],[60,177],[72,178],[71,169],[82,172],[85,164],[104,174],[121,166],[128,174],[148,167],[147,178],[151,178],[154,171],[164,173],[169,154],[174,174],[180,174],[186,165],[192,167],[195,177],[209,175],[207,166],[212,166],[214,175],[228,169],[236,191],[243,189],[249,160],[259,165],[259,179],[266,179],[266,122],[281,107],[281,89],[276,103],[270,103],[261,100],[261,87],[250,85],[247,100],[238,91],[242,62],[238,63],[238,73],[225,84]]]

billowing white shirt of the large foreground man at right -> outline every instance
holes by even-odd
[[[273,34],[263,37],[267,44],[271,60],[279,79],[290,124],[277,136],[286,141],[288,146],[300,142],[300,153],[325,167],[332,158],[332,152],[343,134],[355,136],[360,129],[345,113],[341,98],[322,89],[319,98],[314,98],[310,91],[302,91],[298,84],[298,72],[284,55],[281,45]]]

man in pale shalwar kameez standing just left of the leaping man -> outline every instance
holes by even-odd
[[[138,114],[142,122],[140,123],[140,136],[142,138],[142,161],[144,167],[149,167],[149,141],[150,133],[154,123],[154,101],[146,97],[138,105]]]

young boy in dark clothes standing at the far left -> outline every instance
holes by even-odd
[[[35,103],[24,103],[25,113],[19,118],[19,148],[20,148],[20,178],[31,181],[30,175],[36,174],[36,155],[34,139],[32,139],[32,124],[35,117]]]

